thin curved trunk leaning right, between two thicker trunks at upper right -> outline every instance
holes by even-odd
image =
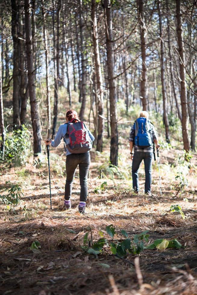
[[[167,11],[169,11],[168,0],[166,0],[166,8],[167,8]],[[172,82],[172,88],[173,88],[174,99],[175,99],[175,103],[176,103],[178,116],[179,116],[180,121],[182,121],[182,115],[181,115],[181,111],[180,111],[180,107],[179,107],[179,103],[178,103],[177,90],[176,90],[176,85],[175,85],[175,81],[174,81],[174,69],[173,69],[173,60],[172,60],[172,51],[171,51],[170,20],[169,20],[168,14],[166,14],[166,18],[167,18],[168,49],[169,49],[169,60],[170,60],[170,79]]]

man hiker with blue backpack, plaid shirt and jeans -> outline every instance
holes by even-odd
[[[132,162],[132,179],[133,189],[139,192],[138,169],[144,160],[145,168],[145,194],[151,197],[151,168],[153,156],[153,141],[156,149],[160,147],[158,144],[158,135],[153,124],[149,121],[149,113],[142,111],[139,118],[134,122],[130,131],[130,154]],[[134,153],[133,153],[134,150]]]

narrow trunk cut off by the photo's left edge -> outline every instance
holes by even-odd
[[[0,46],[0,65],[2,64],[1,60],[1,46]],[[4,116],[3,116],[3,96],[2,96],[2,68],[0,67],[0,126],[1,126],[1,157],[4,157],[5,151],[5,127],[4,127]]]

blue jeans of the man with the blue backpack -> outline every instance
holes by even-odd
[[[133,155],[132,163],[132,179],[133,179],[133,189],[139,191],[139,179],[138,179],[138,169],[142,160],[144,160],[145,168],[145,193],[151,192],[151,168],[152,168],[152,153],[147,152],[135,152]]]

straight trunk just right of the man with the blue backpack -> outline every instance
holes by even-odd
[[[159,31],[160,31],[160,44],[161,44],[161,85],[162,85],[162,96],[163,96],[163,111],[164,111],[164,125],[165,135],[167,143],[170,143],[169,133],[169,122],[167,115],[167,95],[166,95],[166,82],[165,82],[165,64],[164,64],[164,40],[162,39],[162,21],[161,21],[161,7],[158,1],[158,14],[159,14]]]

